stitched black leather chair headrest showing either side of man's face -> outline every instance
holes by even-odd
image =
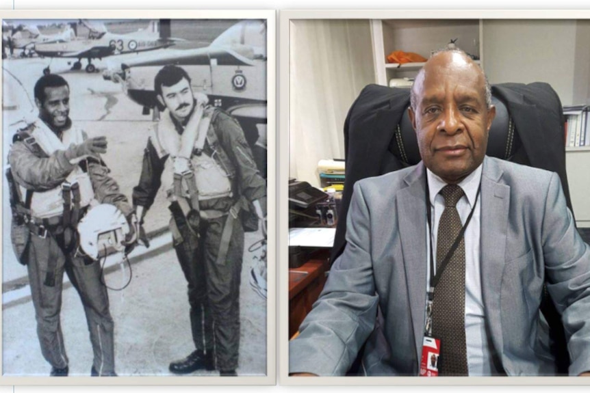
[[[506,105],[493,96],[491,103],[496,107],[496,117],[489,128],[486,154],[510,160],[520,149],[520,139]],[[404,111],[402,120],[396,127],[395,135],[389,144],[389,151],[407,165],[415,165],[422,160],[420,150],[418,150],[418,139],[416,139],[407,110]]]

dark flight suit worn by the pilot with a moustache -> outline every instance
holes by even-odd
[[[196,349],[211,347],[207,337],[209,313],[201,312],[202,309],[207,310],[210,307],[214,323],[216,368],[235,370],[238,367],[240,347],[240,275],[244,254],[244,228],[238,212],[242,208],[242,197],[247,201],[260,200],[261,205],[264,205],[263,210],[266,211],[266,182],[257,170],[238,122],[220,109],[209,107],[205,112],[207,116],[211,116],[211,123],[203,154],[214,157],[216,163],[224,168],[231,181],[232,193],[222,198],[199,200],[201,219],[198,228],[192,230],[188,229],[186,217],[180,211],[177,202],[172,202],[170,230],[177,248],[179,263],[188,281],[191,325]],[[162,126],[166,122],[170,123],[170,120],[179,135],[183,132],[183,126],[174,120],[168,111],[164,111],[162,120],[155,128],[156,135],[158,130],[162,131]],[[166,177],[165,171],[169,166],[167,161],[170,159],[170,152],[163,150],[155,139],[157,136],[151,137],[148,141],[140,182],[133,189],[133,204],[144,206],[145,210],[153,204],[155,195],[162,185],[161,179]],[[226,229],[229,229],[228,232],[231,231],[231,237],[226,245],[225,257],[219,258],[220,243],[223,243],[223,232]],[[200,234],[198,240],[197,232]],[[192,247],[190,256],[190,253],[178,251],[178,247],[187,241],[198,245]],[[202,323],[205,327],[204,332],[201,329]],[[204,338],[202,334],[205,334]],[[203,344],[203,339],[206,344]]]

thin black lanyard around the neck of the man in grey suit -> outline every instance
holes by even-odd
[[[450,261],[450,258],[452,258],[454,252],[457,250],[457,247],[459,247],[459,243],[461,243],[461,239],[463,239],[463,235],[465,234],[465,230],[467,229],[467,226],[469,225],[470,221],[471,221],[471,217],[473,216],[473,213],[475,211],[475,208],[477,206],[477,200],[479,197],[479,193],[481,191],[481,182],[479,184],[479,187],[477,189],[477,193],[475,195],[475,203],[473,204],[473,208],[471,209],[471,212],[469,213],[469,216],[467,217],[467,221],[465,221],[465,224],[463,225],[463,228],[461,228],[461,230],[459,231],[459,234],[457,234],[457,237],[454,239],[454,242],[452,243],[450,249],[448,250],[446,256],[444,257],[444,259],[441,262],[441,265],[439,267],[439,269],[437,269],[437,273],[435,274],[435,267],[434,267],[434,256],[433,256],[433,241],[432,241],[432,235],[431,235],[431,239],[428,242],[430,244],[430,265],[431,265],[431,274],[430,274],[430,286],[428,288],[428,304],[426,306],[426,325],[424,327],[425,329],[425,333],[428,334],[428,336],[432,335],[432,311],[433,311],[433,300],[434,300],[434,295],[435,295],[435,288],[437,286],[437,284],[439,283],[442,274],[444,273],[444,270],[446,269],[446,266],[448,265],[448,262]],[[432,234],[432,219],[431,219],[431,199],[430,199],[430,191],[428,189],[428,179],[426,179],[426,217],[428,219],[428,232],[429,234]]]

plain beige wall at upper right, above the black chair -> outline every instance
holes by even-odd
[[[575,20],[484,20],[483,59],[490,83],[547,82],[563,105],[574,104],[582,94],[576,88],[574,97],[576,49],[589,51],[589,38],[582,44],[585,30]],[[577,66],[585,68],[577,74],[587,82],[587,63]]]

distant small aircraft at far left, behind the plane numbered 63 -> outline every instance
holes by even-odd
[[[8,43],[11,51],[21,49],[21,57],[31,57],[36,52],[38,44],[68,42],[75,38],[75,31],[68,23],[64,23],[62,31],[55,34],[43,34],[36,25],[21,23],[12,28],[12,33],[8,36]]]

